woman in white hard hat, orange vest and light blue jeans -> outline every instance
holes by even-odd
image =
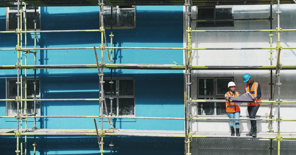
[[[229,98],[230,96],[233,96],[233,97],[239,96],[239,92],[235,91],[234,82],[229,82],[228,88],[229,88],[229,91],[226,92],[224,95],[226,101],[231,101]],[[226,102],[226,113],[230,119],[239,119],[240,108],[234,102]],[[229,122],[230,122],[229,125],[230,125],[230,129],[231,129],[231,136],[234,136],[233,122],[235,122],[235,129],[237,131],[237,136],[240,136],[240,134],[239,134],[239,120],[230,120]]]

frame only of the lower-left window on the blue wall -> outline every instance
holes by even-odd
[[[5,84],[6,84],[6,89],[5,89],[5,96],[6,99],[15,99],[16,96],[9,96],[9,80],[17,80],[17,78],[6,78],[5,79]],[[27,78],[27,80],[34,80],[34,78]],[[39,95],[36,94],[36,98],[40,99],[41,98],[41,82],[40,78],[36,78],[36,81],[39,80]],[[22,78],[22,85],[25,85],[25,78]],[[21,88],[22,89],[22,88]],[[37,89],[37,88],[36,88]],[[23,96],[24,96],[24,91],[23,91]],[[34,95],[27,95],[27,99],[33,99]],[[40,109],[41,109],[41,102],[40,102]],[[36,114],[37,116],[40,116],[40,114]],[[6,101],[6,116],[15,116],[15,115],[9,115],[9,101]]]

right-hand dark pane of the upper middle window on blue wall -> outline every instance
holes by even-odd
[[[119,10],[119,27],[135,27],[135,10]]]

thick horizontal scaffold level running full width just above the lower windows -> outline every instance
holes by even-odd
[[[107,63],[104,68],[112,69],[167,69],[167,70],[184,70],[184,65],[171,64],[123,64]],[[99,66],[102,68],[102,65]],[[50,69],[50,68],[97,68],[96,64],[82,65],[21,65],[21,69]],[[16,65],[0,65],[0,69],[17,69]],[[218,65],[193,65],[191,70],[274,70],[276,65],[255,65],[255,66],[218,66]],[[296,69],[296,65],[282,65],[281,69]]]

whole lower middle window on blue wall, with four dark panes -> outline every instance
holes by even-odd
[[[135,79],[112,78],[112,91],[110,78],[104,78],[104,93],[108,113],[110,113],[112,92],[112,113],[114,115],[135,115]],[[106,115],[105,105],[103,114]]]

